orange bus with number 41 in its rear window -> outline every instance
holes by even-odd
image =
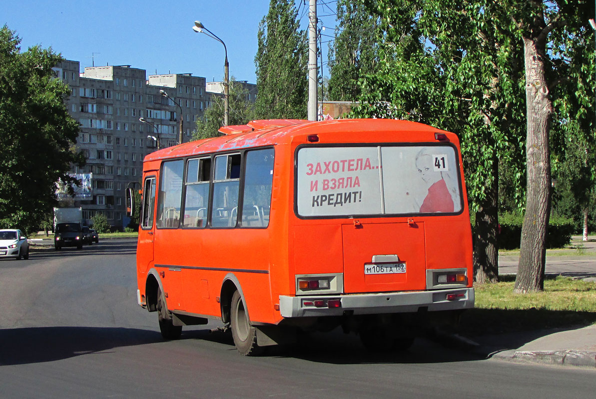
[[[138,304],[162,335],[218,319],[241,354],[342,326],[371,350],[474,306],[455,134],[263,120],[147,155]]]

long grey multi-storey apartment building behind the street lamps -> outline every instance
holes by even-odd
[[[141,181],[145,155],[157,149],[157,141],[161,148],[178,144],[181,117],[182,142],[191,140],[208,101],[205,78],[147,77],[147,71],[131,65],[88,67],[79,73],[79,61],[69,60],[54,71],[70,86],[67,107],[79,121],[77,147],[87,159],[85,166],[73,166],[71,172],[91,177],[91,194],[71,205],[83,209],[87,224],[101,212],[111,225],[122,229],[129,222],[125,189]],[[147,123],[139,121],[141,117]]]

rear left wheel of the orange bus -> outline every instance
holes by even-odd
[[[238,352],[242,356],[258,356],[263,353],[263,347],[257,345],[257,330],[250,325],[249,312],[238,291],[232,295],[230,318],[232,338]]]

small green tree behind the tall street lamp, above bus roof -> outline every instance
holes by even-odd
[[[253,104],[246,96],[248,90],[238,83],[234,77],[229,81],[229,124],[244,125],[249,122],[253,115]],[[224,125],[224,97],[214,95],[211,105],[205,110],[203,117],[197,121],[197,127],[193,131],[193,140],[207,139],[219,136],[219,128]]]

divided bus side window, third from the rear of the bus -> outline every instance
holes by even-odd
[[[188,161],[182,227],[205,227],[207,225],[210,176],[211,158]]]

